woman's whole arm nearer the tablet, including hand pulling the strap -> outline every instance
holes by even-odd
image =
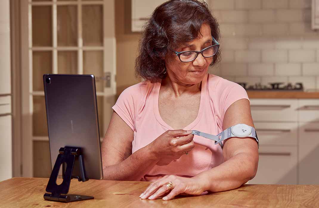
[[[167,165],[194,148],[191,131],[167,130],[132,154],[133,130],[113,112],[101,151],[104,180],[140,180],[155,164]]]

